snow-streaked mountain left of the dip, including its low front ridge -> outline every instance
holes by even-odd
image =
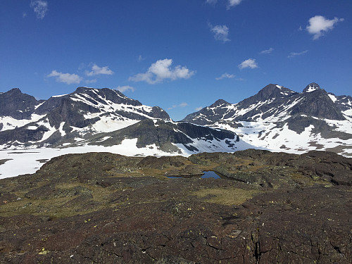
[[[1,149],[122,144],[143,155],[146,149],[187,154],[245,145],[234,132],[173,122],[162,108],[108,88],[78,87],[46,101],[11,89],[0,94],[0,116]]]

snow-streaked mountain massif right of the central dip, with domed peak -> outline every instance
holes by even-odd
[[[185,122],[237,132],[244,142],[273,151],[328,149],[352,156],[352,98],[310,83],[302,93],[268,84],[239,103],[222,99]]]

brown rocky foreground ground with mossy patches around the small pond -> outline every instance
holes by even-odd
[[[322,151],[60,156],[0,180],[0,262],[351,263],[351,185]]]

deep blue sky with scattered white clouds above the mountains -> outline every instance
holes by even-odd
[[[350,0],[1,0],[0,92],[120,89],[174,120],[269,83],[352,95]]]

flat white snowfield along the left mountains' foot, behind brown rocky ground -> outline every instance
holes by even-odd
[[[102,141],[108,139],[104,137]],[[8,159],[3,165],[0,165],[0,179],[6,177],[15,177],[27,173],[34,173],[39,170],[44,164],[43,162],[49,161],[51,158],[56,156],[65,155],[68,153],[87,153],[87,152],[111,152],[125,156],[190,156],[194,153],[199,152],[214,152],[214,151],[237,151],[243,149],[249,149],[249,144],[245,142],[235,142],[235,139],[216,140],[208,142],[203,139],[192,139],[195,146],[199,151],[189,151],[183,144],[174,144],[177,146],[179,151],[165,152],[156,146],[156,144],[148,145],[144,148],[137,148],[136,139],[124,139],[120,145],[115,146],[92,146],[84,144],[83,146],[67,147],[61,149],[54,148],[40,148],[40,149],[18,149],[18,150],[1,150],[0,161]],[[234,144],[232,148],[225,142],[229,140],[230,143]]]

